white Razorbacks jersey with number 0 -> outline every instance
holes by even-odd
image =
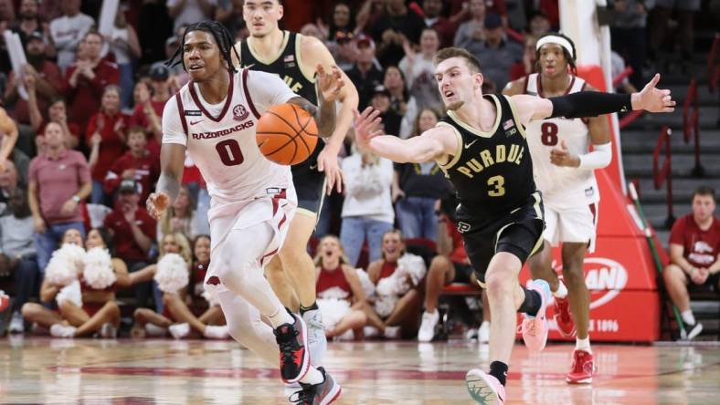
[[[207,182],[210,219],[237,203],[292,187],[289,166],[269,161],[255,140],[258,119],[270,106],[296,97],[276,75],[240,69],[228,96],[210,105],[192,80],[165,103],[163,143],[185,145]]]

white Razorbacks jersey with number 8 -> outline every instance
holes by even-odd
[[[567,87],[567,94],[583,91],[585,80],[573,76]],[[543,96],[540,75],[533,73],[525,78],[525,93]],[[552,205],[573,205],[597,203],[598,183],[592,170],[556,166],[550,162],[550,151],[558,148],[565,140],[567,149],[573,154],[588,153],[589,130],[584,119],[535,119],[525,128],[530,156],[533,158],[535,183],[543,192],[543,200]]]

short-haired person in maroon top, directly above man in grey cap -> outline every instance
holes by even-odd
[[[128,149],[124,155],[112,163],[105,175],[104,190],[108,195],[115,195],[123,180],[139,182],[143,192],[140,204],[144,206],[147,196],[153,190],[153,184],[160,175],[160,164],[147,150],[147,135],[140,127],[131,127],[127,136]]]

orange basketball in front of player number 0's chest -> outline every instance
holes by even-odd
[[[315,150],[318,130],[309,112],[294,104],[270,107],[258,121],[258,148],[278,164],[305,161]]]

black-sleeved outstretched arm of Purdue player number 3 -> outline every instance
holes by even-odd
[[[511,99],[523,125],[532,119],[596,117],[634,109],[672,112],[675,109],[675,101],[670,95],[670,90],[655,88],[658,81],[660,74],[656,74],[639,93],[632,94],[581,91],[550,99],[527,95],[516,95]]]

